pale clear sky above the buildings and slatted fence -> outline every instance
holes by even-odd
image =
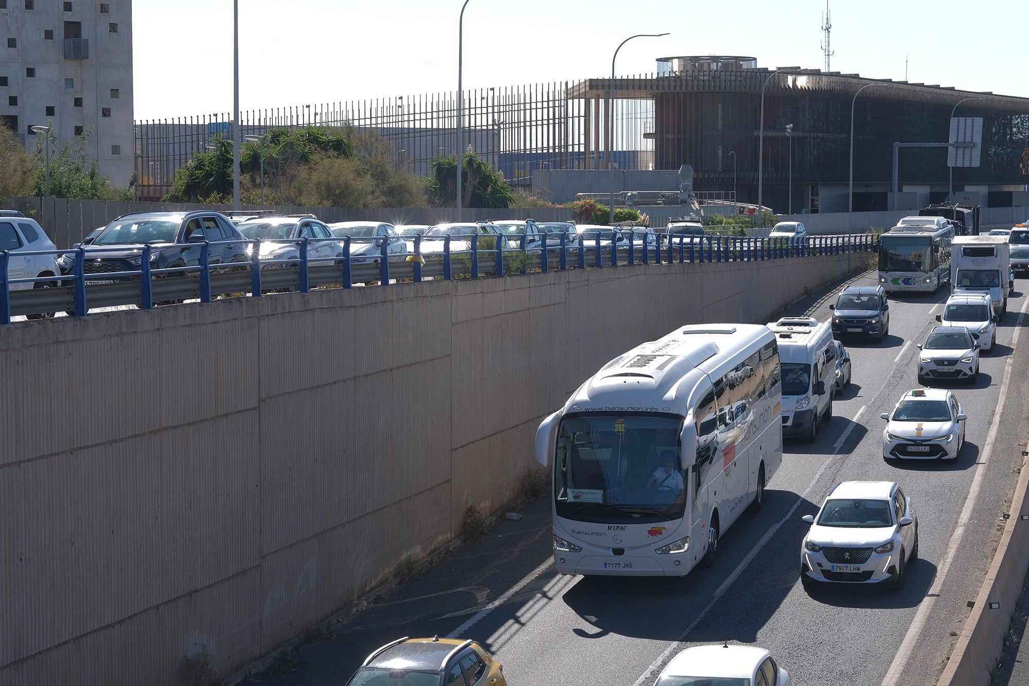
[[[470,0],[464,85],[651,73],[746,55],[822,68],[821,0]],[[240,0],[243,110],[457,89],[461,0]],[[831,0],[833,71],[1029,97],[1029,0]],[[233,107],[230,0],[135,0],[136,118]]]

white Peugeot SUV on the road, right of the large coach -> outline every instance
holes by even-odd
[[[903,586],[904,568],[918,557],[918,517],[892,481],[837,484],[801,543],[801,582]]]

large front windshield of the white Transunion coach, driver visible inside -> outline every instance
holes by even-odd
[[[582,413],[558,428],[554,495],[559,517],[645,522],[682,516],[682,417]]]

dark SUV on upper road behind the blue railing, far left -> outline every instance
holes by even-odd
[[[86,237],[82,241],[82,247],[85,248],[83,267],[86,283],[138,279],[139,275],[130,274],[90,279],[90,274],[139,271],[143,246],[147,244],[151,247],[151,269],[198,266],[204,241],[212,243],[208,251],[208,262],[214,268],[217,268],[217,265],[248,260],[246,239],[225,216],[218,212],[122,214],[92,240]],[[74,268],[74,260],[63,261],[62,273],[70,274]]]

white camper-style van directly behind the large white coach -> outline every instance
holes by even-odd
[[[782,365],[782,435],[818,437],[818,424],[832,417],[836,346],[827,321],[784,317],[770,323]]]

